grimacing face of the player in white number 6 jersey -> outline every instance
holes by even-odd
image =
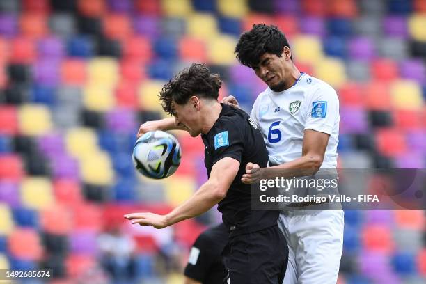
[[[281,57],[276,56],[276,54],[265,53],[260,56],[259,64],[254,66],[253,70],[271,90],[280,92],[287,88],[288,77],[291,74],[290,56],[288,47],[284,48]]]

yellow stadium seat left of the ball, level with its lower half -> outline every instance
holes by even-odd
[[[80,160],[81,179],[88,184],[109,185],[114,172],[109,155],[97,151]]]

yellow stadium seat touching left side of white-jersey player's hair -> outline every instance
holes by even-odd
[[[237,40],[231,36],[217,36],[211,38],[207,45],[207,56],[213,64],[231,65],[236,64],[234,49]]]

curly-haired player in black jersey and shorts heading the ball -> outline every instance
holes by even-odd
[[[166,84],[160,93],[164,111],[178,129],[201,134],[209,179],[191,198],[166,215],[126,214],[141,226],[164,228],[198,216],[219,204],[229,231],[223,250],[225,283],[281,284],[287,267],[285,237],[278,229],[278,211],[251,210],[251,185],[241,182],[248,162],[266,167],[262,134],[247,113],[217,101],[221,80],[205,65],[193,64]],[[169,128],[170,129],[170,128]]]

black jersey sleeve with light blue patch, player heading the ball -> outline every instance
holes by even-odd
[[[216,134],[212,137],[212,145],[214,145],[214,149],[212,149],[213,164],[225,157],[231,157],[241,162],[244,150],[242,128],[248,125],[248,121],[229,120],[226,125],[222,125],[223,126],[219,127]]]

